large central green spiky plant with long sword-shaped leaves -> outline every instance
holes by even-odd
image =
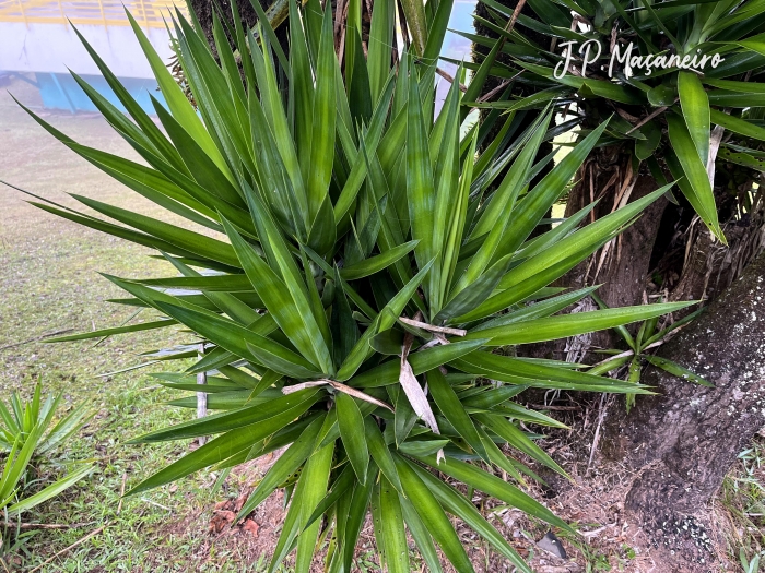
[[[107,277],[131,295],[118,302],[153,309],[160,318],[59,341],[183,325],[204,346],[203,358],[186,372],[158,377],[193,392],[193,374],[209,372],[208,407],[220,411],[137,442],[214,438],[131,493],[287,446],[239,513],[244,517],[276,488],[286,489],[291,503],[271,570],[296,548],[296,571],[308,571],[327,541],[329,571],[350,572],[372,513],[380,560],[391,572],[410,571],[408,534],[432,571],[440,571],[435,544],[458,571],[472,571],[449,514],[530,571],[454,484],[570,530],[522,491],[523,475],[536,476],[506,453],[563,473],[519,428],[520,421],[561,425],[511,398],[528,387],[647,389],[493,350],[687,305],[555,315],[593,289],[562,293],[549,285],[667,188],[595,224],[579,228],[584,210],[530,238],[607,123],[532,189],[529,181],[544,166],[533,160],[552,136],[552,112],[522,133],[504,131],[476,158],[485,132],[480,126],[460,130],[458,83],[434,114],[435,67],[427,56],[438,53],[447,20],[434,17],[425,47],[413,45],[412,53],[395,60],[392,3],[378,0],[368,53],[350,27],[346,46],[355,48],[346,49],[341,69],[331,14],[318,0],[305,10],[291,4],[289,57],[270,41],[268,27],[260,43],[245,34],[234,5],[229,34],[244,56],[240,75],[220,22],[219,64],[178,14],[175,34],[197,115],[131,19],[167,103],[167,109],[156,103],[164,132],[86,43],[132,119],[75,79],[149,165],[79,145],[35,118],[75,153],[188,223],[175,226],[82,196],[75,199],[117,223],[35,202],[155,249],[180,275]],[[198,230],[187,228],[192,224]],[[162,357],[196,356],[199,345]],[[508,481],[496,477],[501,470]]]

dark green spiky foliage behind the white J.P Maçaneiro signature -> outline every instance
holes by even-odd
[[[471,64],[476,77],[508,79],[531,95],[476,106],[519,110],[553,102],[574,115],[572,124],[586,129],[613,114],[601,145],[632,147],[633,171],[646,162],[659,184],[668,167],[725,242],[713,193],[716,162],[745,169],[755,181],[765,167],[765,124],[757,109],[765,107],[761,1],[530,0],[538,17],[517,19],[496,0],[481,2],[489,19],[478,21],[499,39],[466,34],[491,48],[480,65]],[[511,63],[501,63],[499,53]],[[715,55],[722,60],[716,67]],[[660,64],[648,69],[646,62]],[[473,99],[478,94],[476,86]],[[741,198],[743,212],[749,201]]]

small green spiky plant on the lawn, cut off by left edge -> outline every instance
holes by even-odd
[[[26,404],[16,392],[11,393],[8,404],[0,402],[0,453],[5,456],[0,475],[0,511],[5,514],[19,515],[58,496],[93,471],[92,464],[81,464],[39,491],[25,492],[31,481],[30,469],[50,461],[51,452],[66,444],[87,421],[89,411],[81,405],[54,425],[61,396],[48,396],[43,401],[38,383]]]

